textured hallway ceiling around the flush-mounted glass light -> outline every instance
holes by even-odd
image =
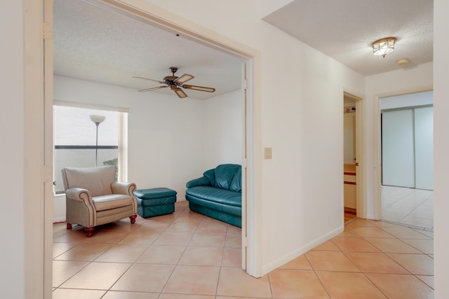
[[[294,0],[264,20],[369,76],[433,61],[433,0]],[[396,37],[385,58],[371,43]]]

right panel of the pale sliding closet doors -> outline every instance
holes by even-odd
[[[415,109],[416,188],[434,190],[434,108]]]

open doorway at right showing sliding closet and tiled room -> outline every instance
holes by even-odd
[[[433,92],[380,99],[382,220],[433,230]]]

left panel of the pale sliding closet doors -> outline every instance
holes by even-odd
[[[413,109],[382,112],[382,185],[415,188]]]

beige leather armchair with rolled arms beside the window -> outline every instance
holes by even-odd
[[[91,237],[95,226],[126,217],[135,223],[138,204],[135,183],[116,183],[115,166],[62,169],[67,229],[83,225]]]

